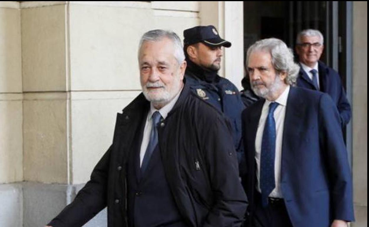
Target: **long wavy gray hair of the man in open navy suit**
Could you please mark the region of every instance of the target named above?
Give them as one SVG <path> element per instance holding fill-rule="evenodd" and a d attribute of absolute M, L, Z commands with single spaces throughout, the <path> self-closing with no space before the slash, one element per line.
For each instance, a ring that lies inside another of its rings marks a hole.
<path fill-rule="evenodd" d="M 282 40 L 276 38 L 262 39 L 254 43 L 247 50 L 246 65 L 249 63 L 250 54 L 254 51 L 270 53 L 272 65 L 277 72 L 286 72 L 286 84 L 296 85 L 296 79 L 300 70 L 299 65 L 293 61 L 293 52 Z"/>

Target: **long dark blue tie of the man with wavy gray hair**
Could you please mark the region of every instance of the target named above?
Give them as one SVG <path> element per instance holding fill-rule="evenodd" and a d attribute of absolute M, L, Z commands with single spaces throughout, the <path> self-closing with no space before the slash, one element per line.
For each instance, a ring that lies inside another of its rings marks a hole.
<path fill-rule="evenodd" d="M 264 207 L 268 205 L 268 196 L 275 188 L 274 160 L 276 150 L 276 123 L 273 114 L 277 106 L 278 103 L 276 102 L 269 104 L 269 113 L 266 118 L 261 142 L 260 189 L 261 202 Z"/>

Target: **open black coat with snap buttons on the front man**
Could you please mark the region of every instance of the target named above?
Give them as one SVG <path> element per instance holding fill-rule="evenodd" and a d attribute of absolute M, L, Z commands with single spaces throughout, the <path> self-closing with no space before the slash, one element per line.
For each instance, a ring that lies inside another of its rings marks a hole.
<path fill-rule="evenodd" d="M 51 226 L 82 226 L 105 206 L 108 227 L 127 226 L 127 159 L 137 146 L 134 138 L 142 133 L 149 105 L 141 93 L 118 113 L 113 144 Z M 158 136 L 166 180 L 187 226 L 240 226 L 247 199 L 223 115 L 185 83 L 175 106 L 159 123 Z"/>

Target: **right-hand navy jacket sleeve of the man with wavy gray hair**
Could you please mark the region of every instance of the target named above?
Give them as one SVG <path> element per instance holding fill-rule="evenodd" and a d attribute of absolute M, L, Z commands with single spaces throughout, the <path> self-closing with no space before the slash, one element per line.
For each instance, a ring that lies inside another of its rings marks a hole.
<path fill-rule="evenodd" d="M 319 108 L 319 138 L 326 155 L 332 219 L 354 221 L 351 170 L 339 114 L 330 96 L 326 94 L 321 96 Z"/>

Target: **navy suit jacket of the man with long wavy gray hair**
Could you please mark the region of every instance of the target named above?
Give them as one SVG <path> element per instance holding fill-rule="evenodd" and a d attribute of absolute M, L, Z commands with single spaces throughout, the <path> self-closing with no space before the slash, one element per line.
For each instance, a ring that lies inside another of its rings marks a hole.
<path fill-rule="evenodd" d="M 255 209 L 255 137 L 265 99 L 242 113 L 248 173 L 243 182 L 249 217 Z M 282 138 L 281 182 L 289 218 L 296 227 L 328 227 L 354 220 L 352 179 L 339 114 L 324 93 L 290 88 Z"/>

